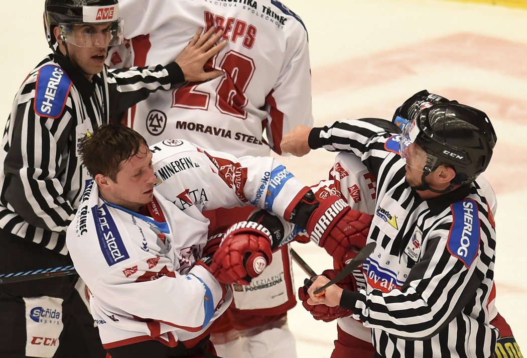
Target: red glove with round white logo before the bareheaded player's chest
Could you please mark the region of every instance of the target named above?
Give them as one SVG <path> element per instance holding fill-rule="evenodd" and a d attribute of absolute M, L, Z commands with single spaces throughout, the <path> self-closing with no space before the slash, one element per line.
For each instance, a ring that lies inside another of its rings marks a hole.
<path fill-rule="evenodd" d="M 232 225 L 212 257 L 210 270 L 221 283 L 248 285 L 271 263 L 271 233 L 252 221 Z"/>

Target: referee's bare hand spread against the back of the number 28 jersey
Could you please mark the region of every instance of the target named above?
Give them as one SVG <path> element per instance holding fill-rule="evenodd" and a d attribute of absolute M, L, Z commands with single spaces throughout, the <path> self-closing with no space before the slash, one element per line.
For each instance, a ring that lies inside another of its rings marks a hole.
<path fill-rule="evenodd" d="M 216 34 L 214 34 L 214 31 L 216 31 L 216 26 L 212 26 L 206 33 L 201 35 L 203 28 L 200 27 L 187 47 L 175 59 L 175 62 L 183 71 L 185 81 L 207 81 L 223 74 L 222 71 L 205 72 L 203 69 L 210 57 L 216 55 L 227 45 L 226 40 L 218 43 L 223 35 L 223 30 L 218 31 Z"/>

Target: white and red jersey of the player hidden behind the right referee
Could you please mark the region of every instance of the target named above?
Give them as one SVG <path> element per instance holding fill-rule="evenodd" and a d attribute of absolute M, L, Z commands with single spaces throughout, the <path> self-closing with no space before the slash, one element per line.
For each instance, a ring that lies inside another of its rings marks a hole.
<path fill-rule="evenodd" d="M 483 176 L 479 176 L 476 182 L 484 192 L 492 216 L 495 216 L 497 201 L 489 181 Z M 372 215 L 375 212 L 375 178 L 354 154 L 346 152 L 337 154 L 335 163 L 329 171 L 329 178 L 320 181 L 318 185 L 311 187 L 311 189 L 320 199 L 324 199 L 329 195 L 339 195 L 348 202 L 348 205 L 352 209 L 368 212 Z M 365 280 L 360 277 L 362 276 L 362 270 L 354 270 L 353 274 L 357 279 L 359 287 L 362 285 L 364 288 Z M 493 287 L 493 293 L 491 294 L 487 307 L 491 320 L 493 320 L 497 315 L 497 309 L 495 307 L 495 286 Z M 370 329 L 363 326 L 361 322 L 354 320 L 354 318 L 339 318 L 337 324 L 344 332 L 360 338 L 363 341 L 371 342 Z"/>

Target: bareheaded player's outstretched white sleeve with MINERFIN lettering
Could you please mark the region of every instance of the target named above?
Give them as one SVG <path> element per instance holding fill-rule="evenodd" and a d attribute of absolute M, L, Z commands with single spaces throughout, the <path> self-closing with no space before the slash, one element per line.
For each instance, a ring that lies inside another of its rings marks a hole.
<path fill-rule="evenodd" d="M 156 192 L 182 210 L 250 205 L 289 219 L 309 190 L 271 157 L 236 158 L 179 139 L 155 143 L 150 151 Z"/>

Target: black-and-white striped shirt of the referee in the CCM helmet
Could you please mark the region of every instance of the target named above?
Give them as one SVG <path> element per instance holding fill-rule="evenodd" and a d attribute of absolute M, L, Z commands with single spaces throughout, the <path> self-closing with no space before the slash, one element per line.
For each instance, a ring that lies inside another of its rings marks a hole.
<path fill-rule="evenodd" d="M 379 356 L 491 357 L 495 230 L 487 200 L 476 182 L 421 199 L 405 181 L 398 140 L 360 120 L 310 133 L 311 148 L 352 152 L 377 179 L 366 289 L 345 291 L 340 304 L 372 328 Z"/>

